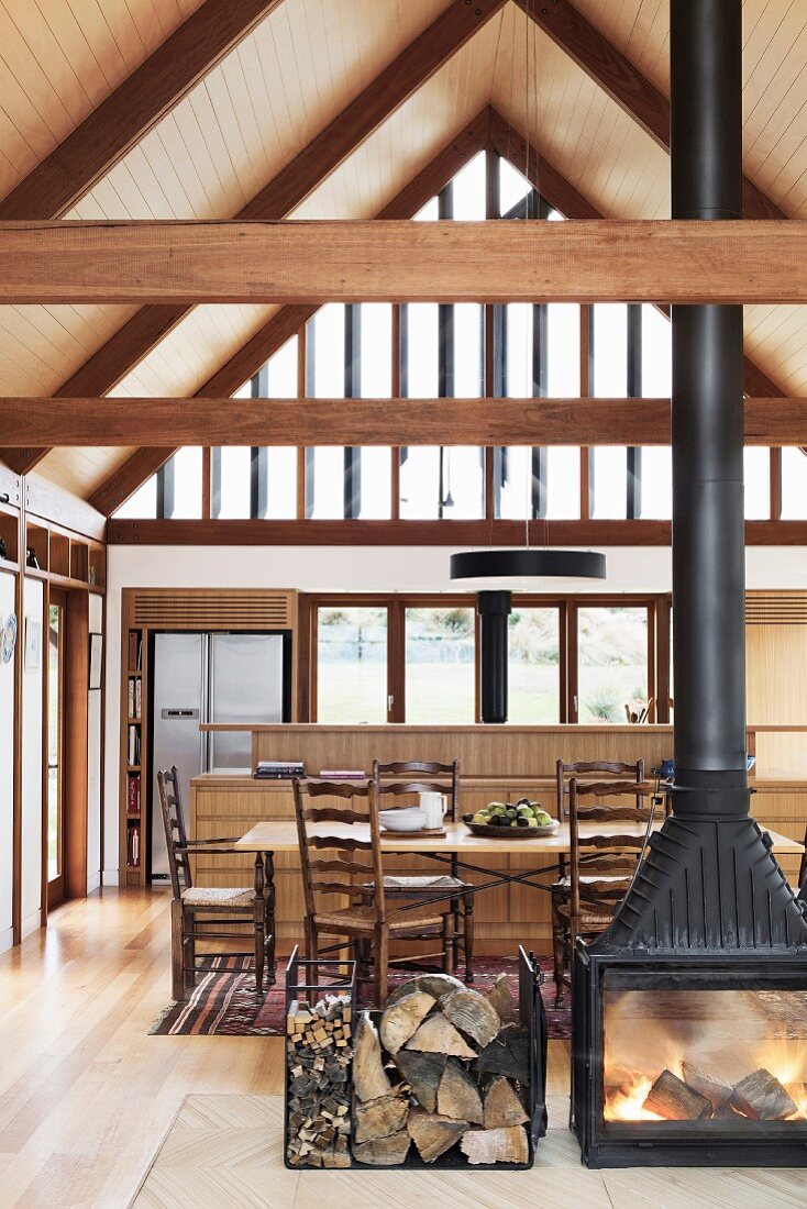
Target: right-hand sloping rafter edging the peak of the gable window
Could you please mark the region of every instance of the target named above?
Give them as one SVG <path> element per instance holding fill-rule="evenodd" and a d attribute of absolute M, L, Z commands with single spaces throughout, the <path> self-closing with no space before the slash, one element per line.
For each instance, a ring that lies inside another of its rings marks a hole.
<path fill-rule="evenodd" d="M 601 210 L 589 202 L 546 156 L 540 156 L 523 131 L 517 129 L 495 109 L 490 109 L 490 143 L 495 151 L 526 177 L 546 202 L 567 219 L 604 219 Z M 670 308 L 658 310 L 669 318 Z M 782 387 L 760 369 L 750 357 L 743 357 L 743 382 L 749 395 L 780 395 Z"/>

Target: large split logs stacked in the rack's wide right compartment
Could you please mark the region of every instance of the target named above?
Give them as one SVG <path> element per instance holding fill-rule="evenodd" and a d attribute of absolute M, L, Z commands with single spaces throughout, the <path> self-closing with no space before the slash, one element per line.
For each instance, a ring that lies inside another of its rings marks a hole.
<path fill-rule="evenodd" d="M 399 988 L 379 1029 L 363 1013 L 353 1052 L 352 1152 L 374 1167 L 410 1147 L 433 1163 L 459 1146 L 468 1163 L 526 1163 L 528 1030 L 502 977 L 486 995 L 446 974 Z"/>

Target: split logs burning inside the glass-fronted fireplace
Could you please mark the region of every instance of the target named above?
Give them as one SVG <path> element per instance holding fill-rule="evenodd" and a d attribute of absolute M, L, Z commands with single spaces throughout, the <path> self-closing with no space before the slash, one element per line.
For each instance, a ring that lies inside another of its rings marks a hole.
<path fill-rule="evenodd" d="M 785 1121 L 799 1112 L 784 1084 L 763 1066 L 734 1084 L 690 1062 L 681 1063 L 681 1074 L 684 1078 L 662 1071 L 645 1100 L 650 1112 L 665 1121 Z"/>

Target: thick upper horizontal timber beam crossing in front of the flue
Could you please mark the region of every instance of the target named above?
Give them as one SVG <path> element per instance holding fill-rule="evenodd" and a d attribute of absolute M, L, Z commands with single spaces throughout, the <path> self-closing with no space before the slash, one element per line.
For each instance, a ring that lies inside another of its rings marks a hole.
<path fill-rule="evenodd" d="M 4 222 L 0 303 L 807 302 L 807 221 Z"/>

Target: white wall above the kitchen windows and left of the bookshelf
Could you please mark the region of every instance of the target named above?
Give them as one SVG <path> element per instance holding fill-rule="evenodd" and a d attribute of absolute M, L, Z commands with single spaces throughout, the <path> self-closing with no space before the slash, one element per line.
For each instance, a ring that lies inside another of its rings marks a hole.
<path fill-rule="evenodd" d="M 300 591 L 456 591 L 449 546 L 134 546 L 110 545 L 106 569 L 106 760 L 104 883 L 117 883 L 121 699 L 121 590 L 123 588 L 296 588 Z M 460 549 L 459 546 L 456 549 Z M 607 579 L 598 591 L 665 592 L 673 586 L 667 546 L 610 548 Z M 807 589 L 807 548 L 751 546 L 747 585 Z M 586 591 L 553 580 L 552 591 Z M 590 589 L 589 589 L 590 590 Z"/>

